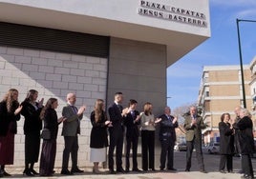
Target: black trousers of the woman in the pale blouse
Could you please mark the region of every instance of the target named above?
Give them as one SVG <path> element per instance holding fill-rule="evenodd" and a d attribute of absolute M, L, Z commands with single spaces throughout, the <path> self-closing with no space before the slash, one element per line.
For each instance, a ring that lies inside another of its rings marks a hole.
<path fill-rule="evenodd" d="M 141 130 L 142 169 L 155 169 L 155 130 Z"/>

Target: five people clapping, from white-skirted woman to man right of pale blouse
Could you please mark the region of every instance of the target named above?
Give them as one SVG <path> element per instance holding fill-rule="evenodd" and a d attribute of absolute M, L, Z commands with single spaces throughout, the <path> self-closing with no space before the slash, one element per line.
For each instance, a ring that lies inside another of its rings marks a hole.
<path fill-rule="evenodd" d="M 167 158 L 167 169 L 176 170 L 173 167 L 173 149 L 176 141 L 175 128 L 178 127 L 177 117 L 171 115 L 171 109 L 166 107 L 164 114 L 155 118 L 152 110 L 153 106 L 147 102 L 143 106 L 143 111 L 139 112 L 136 108 L 138 102 L 130 99 L 128 107 L 121 106 L 123 95 L 117 92 L 114 103 L 108 108 L 109 120 L 104 111 L 102 100 L 96 101 L 95 110 L 91 113 L 93 129 L 91 132 L 91 162 L 94 162 L 93 171 L 99 173 L 98 163 L 106 160 L 106 147 L 108 149 L 109 171 L 112 174 L 117 172 L 141 171 L 138 168 L 138 142 L 141 132 L 141 155 L 142 169 L 155 170 L 155 130 L 160 126 L 160 169 L 165 169 Z M 107 140 L 107 129 L 109 131 L 109 143 Z M 126 132 L 124 130 L 126 129 Z M 141 131 L 139 131 L 141 130 Z M 122 168 L 122 148 L 124 133 L 126 133 L 126 153 L 125 169 Z M 99 139 L 100 138 L 100 139 Z M 114 151 L 116 149 L 116 170 L 114 167 Z M 130 150 L 132 149 L 132 162 L 130 165 Z M 103 154 L 102 154 L 103 153 Z"/>

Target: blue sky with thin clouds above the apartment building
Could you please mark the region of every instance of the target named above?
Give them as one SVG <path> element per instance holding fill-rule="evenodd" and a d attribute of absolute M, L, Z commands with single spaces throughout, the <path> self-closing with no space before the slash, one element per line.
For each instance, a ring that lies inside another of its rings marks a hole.
<path fill-rule="evenodd" d="M 204 66 L 240 65 L 236 19 L 256 21 L 256 0 L 209 0 L 211 37 L 167 69 L 167 105 L 197 102 Z M 243 64 L 256 57 L 256 22 L 240 22 Z M 184 72 L 185 71 L 185 72 Z"/>

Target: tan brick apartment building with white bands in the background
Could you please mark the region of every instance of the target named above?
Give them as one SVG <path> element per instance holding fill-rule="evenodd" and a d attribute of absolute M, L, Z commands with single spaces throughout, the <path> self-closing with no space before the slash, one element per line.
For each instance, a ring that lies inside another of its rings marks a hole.
<path fill-rule="evenodd" d="M 243 67 L 246 106 L 252 109 L 251 70 L 248 65 Z M 203 107 L 203 120 L 207 124 L 207 128 L 203 129 L 204 143 L 218 141 L 221 115 L 229 112 L 231 118 L 235 118 L 234 109 L 244 106 L 240 66 L 205 66 L 198 102 Z"/>

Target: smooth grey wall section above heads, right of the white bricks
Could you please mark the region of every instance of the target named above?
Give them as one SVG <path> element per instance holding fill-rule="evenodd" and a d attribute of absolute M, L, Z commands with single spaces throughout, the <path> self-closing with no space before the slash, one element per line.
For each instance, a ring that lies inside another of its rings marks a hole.
<path fill-rule="evenodd" d="M 166 47 L 163 45 L 111 38 L 108 77 L 108 105 L 122 91 L 123 106 L 129 99 L 153 104 L 155 115 L 166 105 Z"/>

